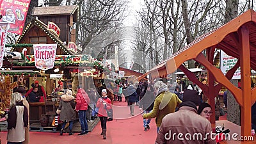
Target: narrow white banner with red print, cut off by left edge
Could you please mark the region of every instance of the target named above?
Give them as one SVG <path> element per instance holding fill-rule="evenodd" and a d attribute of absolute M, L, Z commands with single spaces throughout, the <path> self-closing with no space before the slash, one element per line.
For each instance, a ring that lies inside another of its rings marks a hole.
<path fill-rule="evenodd" d="M 0 68 L 3 66 L 5 41 L 8 28 L 8 22 L 0 22 Z"/>

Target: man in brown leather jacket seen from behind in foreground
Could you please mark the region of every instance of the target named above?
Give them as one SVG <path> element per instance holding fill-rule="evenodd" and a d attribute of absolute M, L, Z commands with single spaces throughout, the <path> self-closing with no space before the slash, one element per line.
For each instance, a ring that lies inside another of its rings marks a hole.
<path fill-rule="evenodd" d="M 216 144 L 209 120 L 197 114 L 198 93 L 184 92 L 179 111 L 164 116 L 156 144 Z"/>

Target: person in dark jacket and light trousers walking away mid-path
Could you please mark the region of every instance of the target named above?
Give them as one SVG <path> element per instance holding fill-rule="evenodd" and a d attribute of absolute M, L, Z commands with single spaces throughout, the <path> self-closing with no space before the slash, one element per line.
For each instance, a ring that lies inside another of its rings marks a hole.
<path fill-rule="evenodd" d="M 134 89 L 134 87 L 132 85 L 130 85 L 126 89 L 125 93 L 126 93 L 125 97 L 127 97 L 127 100 L 128 100 L 128 106 L 130 107 L 131 115 L 134 116 L 134 105 L 135 105 L 135 102 L 137 99 L 136 90 Z"/>

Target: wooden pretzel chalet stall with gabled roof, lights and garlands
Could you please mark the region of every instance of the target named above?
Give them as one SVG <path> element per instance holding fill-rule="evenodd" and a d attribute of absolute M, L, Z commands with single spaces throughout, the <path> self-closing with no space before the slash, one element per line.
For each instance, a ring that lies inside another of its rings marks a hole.
<path fill-rule="evenodd" d="M 13 53 L 19 53 L 24 58 L 9 57 L 12 70 L 35 70 L 38 75 L 28 77 L 26 90 L 31 88 L 35 79 L 44 86 L 47 95 L 51 95 L 58 81 L 65 82 L 65 88 L 72 90 L 72 76 L 70 67 L 77 69 L 77 61 L 88 61 L 88 55 L 81 55 L 81 51 L 74 47 L 76 42 L 76 29 L 73 27 L 77 21 L 78 6 L 49 6 L 36 7 L 33 10 L 34 19 L 22 31 L 22 35 L 12 47 Z M 49 70 L 40 70 L 35 67 L 33 44 L 57 44 L 54 67 Z M 70 46 L 71 45 L 71 46 Z M 58 69 L 58 71 L 57 71 Z M 59 79 L 51 79 L 51 74 L 61 74 Z M 73 77 L 74 78 L 74 77 Z M 77 86 L 74 86 L 74 88 Z M 40 122 L 41 115 L 47 114 L 45 102 L 30 102 L 30 121 Z M 33 114 L 33 115 L 32 115 Z"/>

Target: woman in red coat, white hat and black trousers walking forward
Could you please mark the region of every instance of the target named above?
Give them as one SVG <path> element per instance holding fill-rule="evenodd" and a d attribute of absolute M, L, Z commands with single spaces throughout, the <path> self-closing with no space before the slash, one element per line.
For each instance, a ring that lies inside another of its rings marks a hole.
<path fill-rule="evenodd" d="M 106 139 L 106 132 L 107 132 L 107 120 L 108 120 L 108 113 L 107 110 L 111 109 L 111 100 L 108 98 L 107 90 L 102 89 L 102 98 L 98 99 L 96 108 L 99 108 L 98 116 L 100 118 L 101 123 L 101 135 L 103 138 Z"/>

